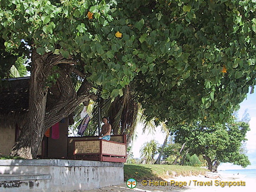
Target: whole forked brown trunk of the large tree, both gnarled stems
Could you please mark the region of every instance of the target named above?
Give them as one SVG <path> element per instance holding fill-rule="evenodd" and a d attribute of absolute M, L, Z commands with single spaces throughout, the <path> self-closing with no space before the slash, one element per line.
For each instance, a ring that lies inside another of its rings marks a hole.
<path fill-rule="evenodd" d="M 89 94 L 91 85 L 84 81 L 76 94 L 69 73 L 69 69 L 61 68 L 58 72 L 60 77 L 57 79 L 57 87 L 60 94 L 54 98 L 52 105 L 46 107 L 47 93 L 49 87 L 46 80 L 52 74 L 52 67 L 65 63 L 60 55 L 46 53 L 40 56 L 33 51 L 32 69 L 29 89 L 29 108 L 27 126 L 21 129 L 20 136 L 12 148 L 11 155 L 20 156 L 25 159 L 36 158 L 37 151 L 46 130 L 53 126 L 64 117 L 72 113 L 75 108 L 83 101 L 95 99 Z"/>

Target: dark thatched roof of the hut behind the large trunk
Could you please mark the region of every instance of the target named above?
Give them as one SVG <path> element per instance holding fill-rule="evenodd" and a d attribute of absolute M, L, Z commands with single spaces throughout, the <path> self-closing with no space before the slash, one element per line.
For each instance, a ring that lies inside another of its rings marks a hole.
<path fill-rule="evenodd" d="M 0 85 L 0 126 L 15 127 L 27 121 L 28 92 L 30 77 L 2 79 Z M 50 88 L 47 95 L 47 106 L 59 98 L 57 85 Z M 72 119 L 70 119 L 72 121 Z"/>

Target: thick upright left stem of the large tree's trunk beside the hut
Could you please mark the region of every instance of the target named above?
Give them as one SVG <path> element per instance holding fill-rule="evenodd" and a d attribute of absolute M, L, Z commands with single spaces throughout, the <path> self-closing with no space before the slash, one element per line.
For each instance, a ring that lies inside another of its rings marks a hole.
<path fill-rule="evenodd" d="M 48 88 L 46 78 L 52 70 L 46 59 L 33 51 L 33 63 L 28 97 L 28 123 L 21 130 L 21 135 L 12 148 L 11 155 L 32 159 L 37 155 L 41 140 L 43 139 L 44 116 Z"/>

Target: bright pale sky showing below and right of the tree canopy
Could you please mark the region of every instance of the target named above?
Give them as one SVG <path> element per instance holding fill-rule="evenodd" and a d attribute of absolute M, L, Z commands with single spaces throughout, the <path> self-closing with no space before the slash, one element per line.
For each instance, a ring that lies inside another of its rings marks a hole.
<path fill-rule="evenodd" d="M 239 119 L 242 118 L 245 110 L 248 110 L 249 117 L 251 118 L 249 121 L 250 131 L 247 132 L 248 140 L 246 142 L 246 148 L 248 150 L 247 155 L 251 165 L 249 165 L 247 169 L 256 169 L 256 93 L 248 94 L 247 98 L 245 98 L 245 100 L 240 104 L 240 109 L 238 111 Z M 156 127 L 156 131 L 154 133 L 146 132 L 143 134 L 142 124 L 139 124 L 136 127 L 136 132 L 137 138 L 132 148 L 134 158 L 140 158 L 139 150 L 142 148 L 143 143 L 152 139 L 157 140 L 160 145 L 164 143 L 165 134 L 161 131 L 161 127 Z M 242 169 L 242 167 L 233 164 L 220 164 L 219 170 L 224 169 Z"/>

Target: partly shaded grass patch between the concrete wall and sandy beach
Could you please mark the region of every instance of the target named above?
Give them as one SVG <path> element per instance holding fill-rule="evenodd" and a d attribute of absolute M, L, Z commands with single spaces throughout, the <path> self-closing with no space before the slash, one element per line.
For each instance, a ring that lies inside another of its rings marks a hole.
<path fill-rule="evenodd" d="M 164 178 L 203 175 L 207 169 L 181 165 L 124 165 L 124 181 L 134 178 L 141 180 L 163 180 Z"/>

